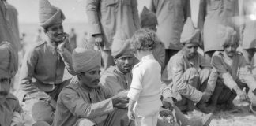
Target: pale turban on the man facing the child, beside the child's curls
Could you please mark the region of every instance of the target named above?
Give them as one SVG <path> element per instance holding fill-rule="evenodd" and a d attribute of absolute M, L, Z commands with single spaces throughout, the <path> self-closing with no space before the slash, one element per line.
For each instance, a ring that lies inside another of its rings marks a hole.
<path fill-rule="evenodd" d="M 132 54 L 129 37 L 123 31 L 118 31 L 112 43 L 111 55 L 118 58 L 124 54 Z"/>

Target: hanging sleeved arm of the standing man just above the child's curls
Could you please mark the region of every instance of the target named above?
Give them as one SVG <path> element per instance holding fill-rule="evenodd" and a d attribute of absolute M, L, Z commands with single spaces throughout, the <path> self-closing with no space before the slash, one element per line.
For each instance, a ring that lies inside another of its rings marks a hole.
<path fill-rule="evenodd" d="M 138 11 L 137 11 L 137 0 L 132 0 L 131 2 L 132 2 L 134 26 L 136 29 L 139 29 L 140 28 L 140 20 L 139 20 Z"/>

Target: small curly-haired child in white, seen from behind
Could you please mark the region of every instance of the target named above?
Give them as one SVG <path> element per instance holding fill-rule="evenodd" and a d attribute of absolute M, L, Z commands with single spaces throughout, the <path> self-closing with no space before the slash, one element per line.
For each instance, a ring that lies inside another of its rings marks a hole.
<path fill-rule="evenodd" d="M 162 106 L 160 100 L 161 67 L 152 55 L 160 41 L 154 31 L 140 29 L 130 39 L 135 57 L 140 61 L 133 69 L 133 80 L 128 92 L 130 98 L 128 117 L 135 119 L 137 126 L 156 126 Z"/>

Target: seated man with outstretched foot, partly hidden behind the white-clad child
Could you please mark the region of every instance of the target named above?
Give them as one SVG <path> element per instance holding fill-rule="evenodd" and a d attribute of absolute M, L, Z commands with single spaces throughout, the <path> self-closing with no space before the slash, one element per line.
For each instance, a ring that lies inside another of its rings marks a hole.
<path fill-rule="evenodd" d="M 131 69 L 134 64 L 133 57 L 134 54 L 132 50 L 130 50 L 129 40 L 124 36 L 115 36 L 113 41 L 113 46 L 111 50 L 111 54 L 115 59 L 115 65 L 108 68 L 102 76 L 100 77 L 100 83 L 109 88 L 114 95 L 118 94 L 120 91 L 125 91 L 130 89 L 130 83 L 132 80 Z M 168 102 L 164 104 L 166 108 L 170 108 L 173 106 Z M 126 106 L 120 106 L 126 108 Z M 181 122 L 182 125 L 191 125 L 191 126 L 200 126 L 207 125 L 212 117 L 212 114 L 205 115 L 205 117 L 198 118 L 196 120 L 189 120 L 184 116 L 183 113 L 180 112 L 177 106 L 173 106 L 174 111 L 162 111 L 160 112 L 161 116 L 167 117 L 168 115 L 174 114 L 177 118 L 177 122 Z M 174 112 L 174 113 L 172 113 Z M 168 126 L 165 124 L 163 120 L 158 120 L 158 126 Z"/>

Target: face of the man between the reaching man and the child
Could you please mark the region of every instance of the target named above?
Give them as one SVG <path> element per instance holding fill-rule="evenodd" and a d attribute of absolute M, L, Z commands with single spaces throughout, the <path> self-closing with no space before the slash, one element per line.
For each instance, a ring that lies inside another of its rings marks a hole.
<path fill-rule="evenodd" d="M 130 72 L 134 64 L 134 57 L 131 54 L 125 54 L 115 59 L 115 65 L 122 73 Z"/>

